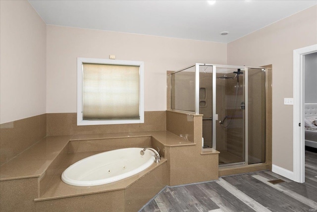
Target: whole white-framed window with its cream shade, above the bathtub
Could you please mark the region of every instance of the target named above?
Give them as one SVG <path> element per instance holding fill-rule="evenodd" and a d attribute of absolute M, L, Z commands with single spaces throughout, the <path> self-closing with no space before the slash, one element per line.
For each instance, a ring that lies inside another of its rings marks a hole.
<path fill-rule="evenodd" d="M 144 123 L 144 63 L 77 58 L 77 125 Z"/>

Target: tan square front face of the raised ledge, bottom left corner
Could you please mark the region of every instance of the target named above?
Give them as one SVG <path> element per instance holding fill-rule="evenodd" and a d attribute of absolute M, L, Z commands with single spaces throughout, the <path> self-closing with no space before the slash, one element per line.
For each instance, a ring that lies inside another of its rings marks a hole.
<path fill-rule="evenodd" d="M 34 212 L 37 184 L 37 178 L 0 181 L 0 211 Z"/>

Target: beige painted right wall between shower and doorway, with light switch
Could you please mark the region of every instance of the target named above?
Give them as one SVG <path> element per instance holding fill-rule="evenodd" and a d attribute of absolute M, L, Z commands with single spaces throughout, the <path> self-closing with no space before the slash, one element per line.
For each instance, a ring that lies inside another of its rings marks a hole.
<path fill-rule="evenodd" d="M 268 14 L 269 15 L 269 14 Z M 293 171 L 293 50 L 317 44 L 317 6 L 228 44 L 228 64 L 272 64 L 272 164 Z"/>

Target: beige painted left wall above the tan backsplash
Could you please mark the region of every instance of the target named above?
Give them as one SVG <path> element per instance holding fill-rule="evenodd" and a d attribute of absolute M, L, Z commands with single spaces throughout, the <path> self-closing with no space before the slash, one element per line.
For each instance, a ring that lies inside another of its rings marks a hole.
<path fill-rule="evenodd" d="M 0 123 L 46 113 L 46 24 L 26 0 L 0 1 Z"/>

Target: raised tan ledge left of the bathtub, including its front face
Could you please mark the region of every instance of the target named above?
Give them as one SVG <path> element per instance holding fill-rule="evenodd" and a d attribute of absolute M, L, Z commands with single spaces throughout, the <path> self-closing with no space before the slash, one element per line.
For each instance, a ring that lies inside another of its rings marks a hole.
<path fill-rule="evenodd" d="M 0 166 L 1 211 L 35 211 L 34 199 L 52 179 L 55 161 L 64 160 L 70 138 L 46 137 Z"/>

